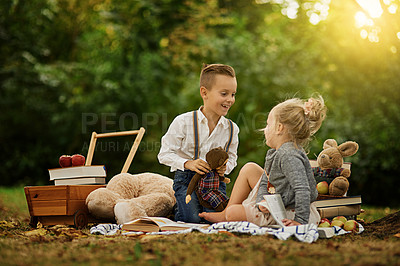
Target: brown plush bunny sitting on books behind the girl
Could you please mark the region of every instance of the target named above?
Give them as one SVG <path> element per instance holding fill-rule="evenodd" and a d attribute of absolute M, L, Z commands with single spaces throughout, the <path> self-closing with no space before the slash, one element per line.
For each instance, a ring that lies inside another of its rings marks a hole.
<path fill-rule="evenodd" d="M 313 167 L 314 177 L 317 183 L 326 181 L 329 184 L 328 193 L 331 196 L 343 196 L 349 188 L 350 170 L 342 168 L 343 157 L 354 155 L 358 151 L 358 144 L 354 141 L 346 141 L 337 145 L 336 140 L 327 139 L 323 150 L 318 155 L 317 167 Z"/>

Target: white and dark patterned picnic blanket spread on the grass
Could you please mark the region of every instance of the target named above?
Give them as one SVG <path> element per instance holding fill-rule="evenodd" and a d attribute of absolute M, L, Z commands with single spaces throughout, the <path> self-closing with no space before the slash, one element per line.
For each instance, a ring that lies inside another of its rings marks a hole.
<path fill-rule="evenodd" d="M 364 231 L 364 228 L 359 224 L 358 234 Z M 91 234 L 100 235 L 115 235 L 120 232 L 122 225 L 118 224 L 99 224 L 90 228 Z M 221 231 L 227 231 L 231 233 L 241 233 L 241 234 L 251 234 L 251 235 L 273 235 L 280 240 L 287 240 L 291 236 L 294 236 L 300 242 L 313 243 L 317 241 L 318 227 L 315 224 L 303 224 L 297 226 L 282 227 L 279 229 L 269 228 L 269 227 L 259 227 L 250 222 L 221 222 L 210 225 L 207 229 L 200 227 L 188 228 L 179 231 L 164 231 L 164 232 L 151 232 L 146 233 L 150 235 L 172 235 L 172 234 L 186 234 L 190 232 L 201 232 L 204 234 L 216 234 Z M 348 231 L 334 226 L 335 235 L 348 234 Z M 144 234 L 144 232 L 133 232 L 133 231 L 122 231 L 122 235 L 137 235 Z"/>

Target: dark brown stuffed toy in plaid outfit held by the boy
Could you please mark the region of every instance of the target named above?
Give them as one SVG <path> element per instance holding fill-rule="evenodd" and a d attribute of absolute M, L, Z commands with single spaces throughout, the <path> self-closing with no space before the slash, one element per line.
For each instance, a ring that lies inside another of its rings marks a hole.
<path fill-rule="evenodd" d="M 186 191 L 186 204 L 191 201 L 191 194 L 196 191 L 196 195 L 203 207 L 223 211 L 228 204 L 228 197 L 219 191 L 219 182 L 229 183 L 231 180 L 224 176 L 219 176 L 217 171 L 228 162 L 228 153 L 221 147 L 210 150 L 206 154 L 206 161 L 211 167 L 207 174 L 196 173 L 189 183 Z"/>

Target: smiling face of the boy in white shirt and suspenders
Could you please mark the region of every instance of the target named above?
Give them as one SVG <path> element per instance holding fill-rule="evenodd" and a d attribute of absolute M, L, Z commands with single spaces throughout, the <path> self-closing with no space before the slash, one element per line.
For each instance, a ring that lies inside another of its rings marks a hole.
<path fill-rule="evenodd" d="M 225 116 L 235 103 L 236 78 L 216 75 L 212 88 L 200 88 L 204 108 L 218 116 Z"/>

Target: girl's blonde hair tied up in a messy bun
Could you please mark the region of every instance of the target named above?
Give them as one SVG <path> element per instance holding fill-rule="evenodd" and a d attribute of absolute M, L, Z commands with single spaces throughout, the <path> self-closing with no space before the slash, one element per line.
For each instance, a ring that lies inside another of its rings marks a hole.
<path fill-rule="evenodd" d="M 298 98 L 286 100 L 276 105 L 273 111 L 275 121 L 282 123 L 291 141 L 301 147 L 307 146 L 326 117 L 326 106 L 320 95 L 308 101 Z"/>

